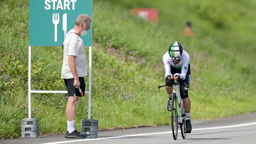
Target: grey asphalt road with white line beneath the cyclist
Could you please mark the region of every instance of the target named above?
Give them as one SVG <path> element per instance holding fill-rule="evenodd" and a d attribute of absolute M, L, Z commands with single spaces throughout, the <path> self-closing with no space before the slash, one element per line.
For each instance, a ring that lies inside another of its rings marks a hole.
<path fill-rule="evenodd" d="M 170 126 L 104 130 L 98 138 L 67 139 L 64 135 L 0 140 L 0 144 L 255 144 L 256 112 L 209 121 L 192 121 L 192 132 L 172 137 Z"/>

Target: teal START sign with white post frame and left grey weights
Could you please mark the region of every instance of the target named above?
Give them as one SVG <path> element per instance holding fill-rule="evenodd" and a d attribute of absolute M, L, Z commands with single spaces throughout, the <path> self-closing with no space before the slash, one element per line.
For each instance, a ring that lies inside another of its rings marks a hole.
<path fill-rule="evenodd" d="M 92 18 L 92 0 L 30 0 L 28 46 L 28 119 L 22 119 L 22 137 L 38 137 L 38 129 L 31 118 L 31 93 L 68 93 L 66 90 L 31 90 L 31 46 L 60 46 L 66 32 L 74 27 L 79 14 Z M 92 25 L 92 24 L 91 24 Z M 88 119 L 91 118 L 92 92 L 92 29 L 82 37 L 89 46 Z M 32 125 L 31 125 L 32 124 Z M 32 126 L 31 128 L 28 128 Z M 35 129 L 32 131 L 31 129 Z M 30 131 L 28 131 L 30 130 Z"/>

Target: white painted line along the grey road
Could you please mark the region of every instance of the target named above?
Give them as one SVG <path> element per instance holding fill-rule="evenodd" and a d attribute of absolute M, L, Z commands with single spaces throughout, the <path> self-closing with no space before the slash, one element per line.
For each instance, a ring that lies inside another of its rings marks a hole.
<path fill-rule="evenodd" d="M 218 127 L 209 127 L 209 128 L 195 128 L 192 131 L 195 130 L 214 130 L 214 129 L 221 129 L 221 128 L 236 128 L 241 126 L 250 126 L 254 125 L 256 122 L 246 123 L 246 124 L 236 124 L 236 125 L 230 125 L 230 126 L 218 126 Z M 43 144 L 65 144 L 69 142 L 81 142 L 81 141 L 90 141 L 90 140 L 106 140 L 106 139 L 113 139 L 113 138 L 125 138 L 125 137 L 134 137 L 134 136 L 145 136 L 145 135 L 154 135 L 154 134 L 169 134 L 172 133 L 169 132 L 153 132 L 153 133 L 146 133 L 146 134 L 132 134 L 132 135 L 124 135 L 124 136 L 112 136 L 107 138 L 89 138 L 89 139 L 81 139 L 81 140 L 69 140 L 69 141 L 62 141 L 62 142 L 48 142 Z"/>

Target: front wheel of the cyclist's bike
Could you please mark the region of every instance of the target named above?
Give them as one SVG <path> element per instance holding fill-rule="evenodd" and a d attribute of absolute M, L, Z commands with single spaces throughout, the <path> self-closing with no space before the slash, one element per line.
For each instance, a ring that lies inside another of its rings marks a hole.
<path fill-rule="evenodd" d="M 171 120 L 172 120 L 172 136 L 174 140 L 178 136 L 178 108 L 176 104 L 176 94 L 172 93 L 172 110 L 171 110 Z"/>

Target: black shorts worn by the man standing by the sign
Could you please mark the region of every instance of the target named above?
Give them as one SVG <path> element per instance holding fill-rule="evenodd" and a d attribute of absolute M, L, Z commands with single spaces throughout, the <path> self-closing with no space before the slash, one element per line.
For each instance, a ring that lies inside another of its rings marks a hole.
<path fill-rule="evenodd" d="M 84 93 L 85 91 L 84 77 L 79 77 L 79 81 L 80 81 L 80 88 Z M 74 78 L 64 79 L 64 82 L 68 90 L 68 96 L 74 96 L 74 93 L 76 94 L 76 96 L 81 96 L 79 90 L 74 86 Z"/>

